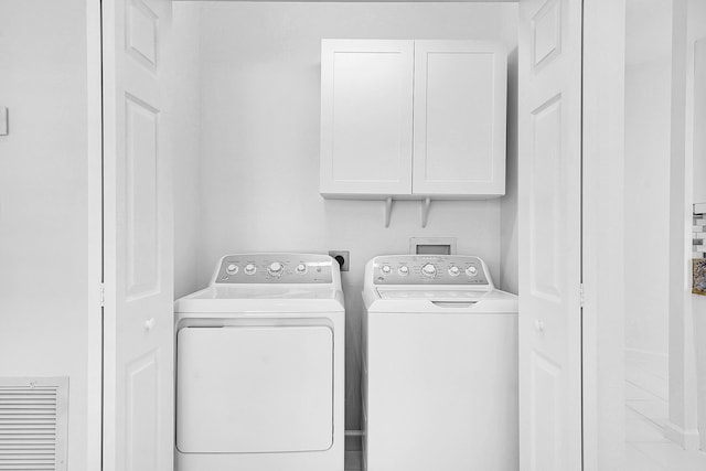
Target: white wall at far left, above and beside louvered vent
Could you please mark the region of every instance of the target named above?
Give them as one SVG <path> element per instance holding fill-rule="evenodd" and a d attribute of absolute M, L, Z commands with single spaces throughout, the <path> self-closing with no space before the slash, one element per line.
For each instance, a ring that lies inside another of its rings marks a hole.
<path fill-rule="evenodd" d="M 0 2 L 0 377 L 68 376 L 86 465 L 86 2 Z M 92 311 L 99 315 L 99 310 Z"/>

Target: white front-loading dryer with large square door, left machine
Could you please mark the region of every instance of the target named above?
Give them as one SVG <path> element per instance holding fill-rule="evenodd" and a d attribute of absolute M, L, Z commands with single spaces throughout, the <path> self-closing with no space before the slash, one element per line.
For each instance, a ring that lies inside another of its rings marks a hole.
<path fill-rule="evenodd" d="M 335 260 L 227 255 L 175 322 L 178 471 L 343 471 Z"/>

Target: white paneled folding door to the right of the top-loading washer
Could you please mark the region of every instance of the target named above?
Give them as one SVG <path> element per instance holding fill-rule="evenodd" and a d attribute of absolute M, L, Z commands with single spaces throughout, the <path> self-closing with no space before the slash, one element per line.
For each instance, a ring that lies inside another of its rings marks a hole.
<path fill-rule="evenodd" d="M 581 469 L 581 0 L 520 1 L 520 463 Z"/>

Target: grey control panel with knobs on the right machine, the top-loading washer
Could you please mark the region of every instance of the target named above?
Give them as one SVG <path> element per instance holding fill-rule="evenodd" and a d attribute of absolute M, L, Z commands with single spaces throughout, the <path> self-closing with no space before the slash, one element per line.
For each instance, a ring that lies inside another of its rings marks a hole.
<path fill-rule="evenodd" d="M 373 261 L 374 285 L 488 286 L 483 261 L 464 255 L 388 255 Z"/>

